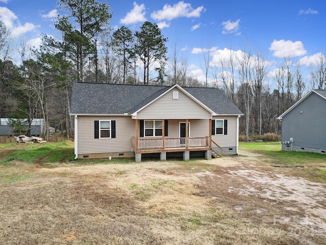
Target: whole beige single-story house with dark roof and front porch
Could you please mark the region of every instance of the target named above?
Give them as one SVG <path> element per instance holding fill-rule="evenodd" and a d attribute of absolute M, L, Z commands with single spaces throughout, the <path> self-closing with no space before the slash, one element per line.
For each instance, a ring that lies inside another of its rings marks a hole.
<path fill-rule="evenodd" d="M 76 158 L 236 155 L 242 112 L 218 88 L 73 84 Z M 181 155 L 181 156 L 182 156 Z"/>

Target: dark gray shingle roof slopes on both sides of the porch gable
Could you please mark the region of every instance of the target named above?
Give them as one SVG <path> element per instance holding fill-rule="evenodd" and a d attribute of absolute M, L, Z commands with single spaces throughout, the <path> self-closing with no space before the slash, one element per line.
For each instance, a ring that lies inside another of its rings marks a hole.
<path fill-rule="evenodd" d="M 170 88 L 167 86 L 75 82 L 72 87 L 70 113 L 133 113 Z M 218 88 L 183 87 L 183 89 L 218 114 L 243 115 Z"/>

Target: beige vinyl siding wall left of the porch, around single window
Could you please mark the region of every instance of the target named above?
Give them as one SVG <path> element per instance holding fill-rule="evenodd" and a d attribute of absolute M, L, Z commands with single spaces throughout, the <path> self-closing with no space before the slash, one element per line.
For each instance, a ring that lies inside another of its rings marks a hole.
<path fill-rule="evenodd" d="M 116 120 L 116 138 L 95 139 L 95 120 Z M 128 152 L 135 136 L 135 120 L 129 116 L 78 116 L 78 154 Z"/>

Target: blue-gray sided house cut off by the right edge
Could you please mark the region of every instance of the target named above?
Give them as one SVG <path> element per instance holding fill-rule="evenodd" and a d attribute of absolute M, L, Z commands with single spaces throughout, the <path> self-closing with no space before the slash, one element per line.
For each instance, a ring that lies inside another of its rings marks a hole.
<path fill-rule="evenodd" d="M 325 154 L 326 90 L 310 90 L 278 119 L 282 120 L 282 150 Z"/>

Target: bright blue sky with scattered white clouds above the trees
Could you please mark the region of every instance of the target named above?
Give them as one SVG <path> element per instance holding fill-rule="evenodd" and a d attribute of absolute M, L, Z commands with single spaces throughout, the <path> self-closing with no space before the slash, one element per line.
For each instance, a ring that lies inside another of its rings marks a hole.
<path fill-rule="evenodd" d="M 60 37 L 53 28 L 58 15 L 56 0 L 0 0 L 0 17 L 13 36 L 39 43 L 42 34 Z M 108 1 L 111 26 L 139 30 L 144 21 L 157 23 L 169 39 L 168 57 L 174 46 L 186 59 L 188 74 L 203 80 L 204 56 L 212 61 L 234 51 L 259 51 L 269 61 L 270 71 L 284 58 L 303 66 L 313 64 L 325 48 L 326 2 L 283 1 Z"/>

